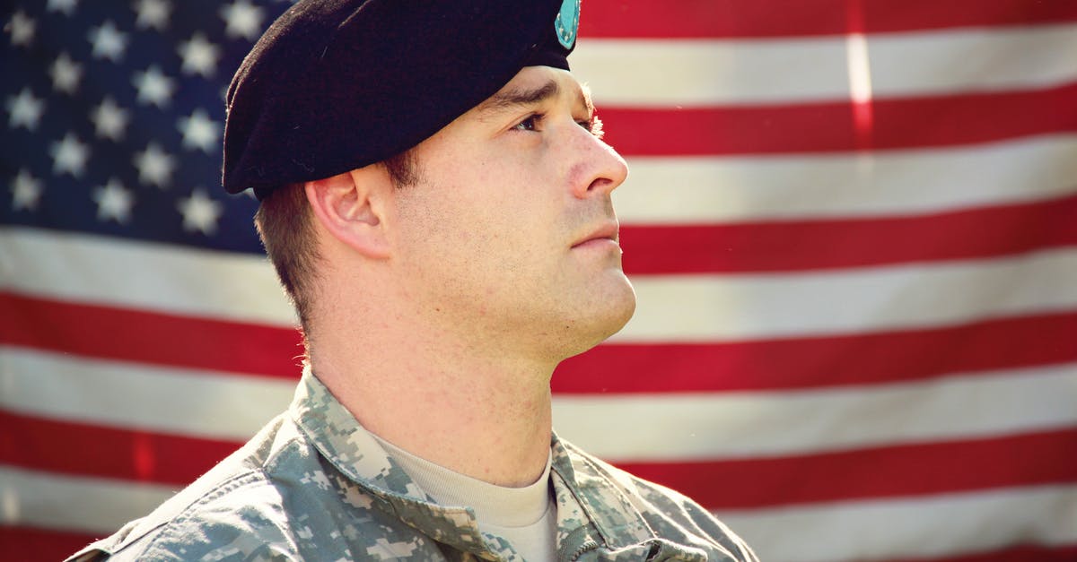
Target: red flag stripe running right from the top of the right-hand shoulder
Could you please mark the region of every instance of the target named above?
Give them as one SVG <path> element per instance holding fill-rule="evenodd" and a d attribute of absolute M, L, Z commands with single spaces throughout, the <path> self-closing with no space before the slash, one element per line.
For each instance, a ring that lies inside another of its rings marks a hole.
<path fill-rule="evenodd" d="M 774 507 L 1077 482 L 1077 428 L 774 459 L 616 464 L 712 510 Z"/>

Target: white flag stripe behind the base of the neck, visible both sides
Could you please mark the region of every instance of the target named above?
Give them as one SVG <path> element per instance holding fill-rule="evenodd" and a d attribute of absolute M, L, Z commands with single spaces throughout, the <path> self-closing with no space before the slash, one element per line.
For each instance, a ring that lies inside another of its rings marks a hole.
<path fill-rule="evenodd" d="M 288 407 L 294 389 L 285 380 L 0 352 L 11 367 L 5 409 L 170 435 L 246 441 Z M 609 460 L 722 460 L 1052 430 L 1077 423 L 1074 395 L 1077 365 L 1068 364 L 853 389 L 557 395 L 554 417 L 564 438 Z"/>

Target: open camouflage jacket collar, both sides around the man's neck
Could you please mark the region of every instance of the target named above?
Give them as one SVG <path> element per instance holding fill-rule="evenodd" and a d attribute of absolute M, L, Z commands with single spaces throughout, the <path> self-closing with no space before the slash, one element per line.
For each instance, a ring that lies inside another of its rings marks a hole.
<path fill-rule="evenodd" d="M 434 503 L 309 367 L 304 370 L 290 413 L 318 451 L 349 484 L 359 488 L 349 486 L 340 490 L 346 503 L 369 497 L 370 503 L 439 543 L 481 558 L 491 554 L 495 559 L 513 558 L 513 550 L 504 539 L 479 531 L 472 509 Z M 617 549 L 655 537 L 629 500 L 633 484 L 623 473 L 562 441 L 556 434 L 550 447 L 551 479 L 558 502 L 558 545 L 583 544 L 586 537 Z M 591 530 L 598 536 L 590 536 Z"/>

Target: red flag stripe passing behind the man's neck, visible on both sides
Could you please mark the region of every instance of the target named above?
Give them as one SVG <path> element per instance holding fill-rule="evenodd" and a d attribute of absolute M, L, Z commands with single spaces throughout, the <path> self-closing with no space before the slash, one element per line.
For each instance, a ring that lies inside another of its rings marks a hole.
<path fill-rule="evenodd" d="M 252 332 L 242 324 L 158 317 L 12 294 L 0 294 L 0 307 L 15 312 L 0 317 L 0 342 L 8 345 L 286 379 L 295 379 L 298 373 L 297 367 L 289 367 L 293 364 L 291 355 L 282 352 L 294 349 L 292 338 L 297 338 L 288 329 L 258 337 L 262 332 Z M 62 322 L 37 326 L 34 319 Z M 158 324 L 157 320 L 163 322 Z M 71 329 L 72 325 L 102 325 L 107 329 Z M 193 336 L 196 334 L 208 336 Z M 562 362 L 553 389 L 565 394 L 721 392 L 918 380 L 951 373 L 1077 361 L 1073 334 L 1077 334 L 1077 311 L 843 336 L 606 343 Z M 182 353 L 176 352 L 178 340 L 183 340 Z M 221 363 L 210 361 L 214 357 Z M 227 357 L 227 362 L 220 357 Z M 267 365 L 266 357 L 279 363 Z"/>

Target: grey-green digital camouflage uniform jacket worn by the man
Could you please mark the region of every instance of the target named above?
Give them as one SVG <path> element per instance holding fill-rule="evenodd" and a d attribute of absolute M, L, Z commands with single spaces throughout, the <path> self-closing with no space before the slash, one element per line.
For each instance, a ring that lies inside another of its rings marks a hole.
<path fill-rule="evenodd" d="M 556 436 L 559 560 L 753 561 L 684 496 Z M 154 512 L 69 560 L 520 560 L 433 503 L 309 370 L 286 412 Z"/>

